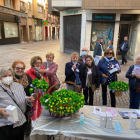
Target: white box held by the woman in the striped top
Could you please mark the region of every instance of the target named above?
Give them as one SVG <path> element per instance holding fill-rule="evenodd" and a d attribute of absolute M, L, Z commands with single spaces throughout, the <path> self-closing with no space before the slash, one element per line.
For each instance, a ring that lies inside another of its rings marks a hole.
<path fill-rule="evenodd" d="M 8 121 L 16 123 L 18 121 L 18 112 L 15 106 L 9 105 L 6 108 L 6 112 L 10 115 Z"/>

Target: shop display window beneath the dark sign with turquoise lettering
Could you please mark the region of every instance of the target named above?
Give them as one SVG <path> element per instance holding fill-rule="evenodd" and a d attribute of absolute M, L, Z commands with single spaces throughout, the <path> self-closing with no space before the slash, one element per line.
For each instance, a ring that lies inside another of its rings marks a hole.
<path fill-rule="evenodd" d="M 114 23 L 92 23 L 91 45 L 90 50 L 93 51 L 96 42 L 103 38 L 103 50 L 108 47 L 108 41 L 113 40 Z"/>

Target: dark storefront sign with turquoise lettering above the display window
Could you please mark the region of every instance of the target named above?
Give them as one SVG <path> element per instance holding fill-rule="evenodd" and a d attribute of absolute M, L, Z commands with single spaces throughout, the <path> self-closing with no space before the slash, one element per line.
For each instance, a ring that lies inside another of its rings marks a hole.
<path fill-rule="evenodd" d="M 93 14 L 93 20 L 115 20 L 114 14 Z"/>

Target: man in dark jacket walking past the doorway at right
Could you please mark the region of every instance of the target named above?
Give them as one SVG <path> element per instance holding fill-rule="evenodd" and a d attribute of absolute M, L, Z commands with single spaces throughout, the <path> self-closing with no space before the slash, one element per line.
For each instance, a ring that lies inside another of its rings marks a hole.
<path fill-rule="evenodd" d="M 128 41 L 127 36 L 125 36 L 124 41 L 123 41 L 123 43 L 120 47 L 120 51 L 122 52 L 122 63 L 121 63 L 121 65 L 124 65 L 124 63 L 125 63 L 125 65 L 127 64 L 127 60 L 126 60 L 125 57 L 126 57 L 126 54 L 129 50 L 129 48 L 130 48 L 129 41 Z"/>

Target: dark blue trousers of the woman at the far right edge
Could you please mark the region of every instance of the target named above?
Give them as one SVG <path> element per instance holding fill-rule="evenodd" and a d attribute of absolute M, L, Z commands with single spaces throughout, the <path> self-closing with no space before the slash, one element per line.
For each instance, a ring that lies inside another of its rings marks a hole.
<path fill-rule="evenodd" d="M 135 89 L 130 88 L 130 107 L 131 109 L 139 109 L 140 105 L 140 93 Z"/>

